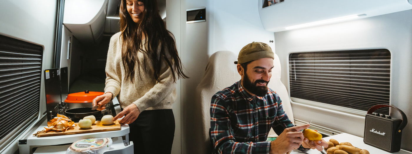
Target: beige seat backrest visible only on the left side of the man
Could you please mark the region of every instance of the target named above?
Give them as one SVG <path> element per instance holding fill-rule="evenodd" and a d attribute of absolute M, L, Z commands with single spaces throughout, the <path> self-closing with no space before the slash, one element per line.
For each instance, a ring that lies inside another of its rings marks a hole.
<path fill-rule="evenodd" d="M 199 85 L 196 87 L 195 108 L 200 108 L 200 113 L 194 116 L 193 134 L 195 140 L 188 143 L 189 147 L 196 147 L 199 154 L 210 154 L 210 104 L 212 96 L 233 85 L 241 79 L 236 70 L 237 55 L 231 51 L 218 51 L 209 58 L 206 71 Z"/>

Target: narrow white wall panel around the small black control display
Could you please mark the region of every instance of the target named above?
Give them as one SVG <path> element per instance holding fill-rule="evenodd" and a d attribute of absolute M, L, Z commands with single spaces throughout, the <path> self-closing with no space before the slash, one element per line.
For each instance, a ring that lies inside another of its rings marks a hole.
<path fill-rule="evenodd" d="M 211 21 L 211 8 L 206 0 L 187 0 L 185 8 L 206 7 L 206 22 L 185 22 L 185 51 L 182 52 L 185 73 L 190 78 L 182 80 L 182 154 L 203 153 L 205 145 L 201 144 L 199 131 L 199 102 L 194 102 L 196 87 L 199 84 L 208 60 L 208 23 Z M 186 18 L 185 18 L 186 21 Z"/>

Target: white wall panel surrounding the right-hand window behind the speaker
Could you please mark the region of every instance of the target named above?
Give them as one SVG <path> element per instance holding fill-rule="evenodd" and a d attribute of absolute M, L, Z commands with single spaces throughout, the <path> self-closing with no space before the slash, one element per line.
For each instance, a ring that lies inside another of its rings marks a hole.
<path fill-rule="evenodd" d="M 276 32 L 276 54 L 282 67 L 282 82 L 289 87 L 288 56 L 293 52 L 386 48 L 391 51 L 390 103 L 412 117 L 412 10 L 335 23 L 313 28 Z M 289 88 L 288 88 L 289 89 Z M 365 117 L 292 104 L 296 119 L 363 137 Z M 399 118 L 391 110 L 393 117 Z M 405 127 L 402 149 L 411 151 L 412 124 Z"/>

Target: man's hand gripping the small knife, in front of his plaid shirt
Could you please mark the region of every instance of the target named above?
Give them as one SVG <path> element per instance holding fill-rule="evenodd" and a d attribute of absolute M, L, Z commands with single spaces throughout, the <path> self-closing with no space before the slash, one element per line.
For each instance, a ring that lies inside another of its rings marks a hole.
<path fill-rule="evenodd" d="M 308 128 L 309 124 L 301 126 L 289 127 L 276 138 L 276 140 L 270 143 L 270 154 L 286 154 L 293 149 L 299 148 L 302 144 L 304 136 L 301 132 L 302 129 Z"/>

